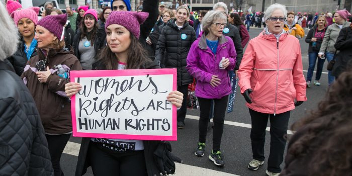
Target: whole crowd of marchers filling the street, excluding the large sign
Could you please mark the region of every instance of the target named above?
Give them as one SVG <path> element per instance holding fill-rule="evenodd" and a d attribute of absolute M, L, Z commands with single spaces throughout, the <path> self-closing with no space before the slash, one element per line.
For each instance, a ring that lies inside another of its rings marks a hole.
<path fill-rule="evenodd" d="M 199 13 L 188 6 L 167 9 L 157 0 L 144 0 L 137 12 L 129 0 L 111 0 L 102 10 L 82 6 L 78 13 L 69 6 L 63 13 L 50 2 L 44 9 L 38 20 L 38 7 L 22 9 L 13 0 L 0 4 L 0 33 L 7 34 L 0 35 L 0 175 L 64 175 L 60 158 L 72 134 L 71 97 L 82 88 L 70 82 L 71 70 L 162 68 L 177 69 L 177 91 L 166 100 L 177 108 L 179 130 L 187 128 L 189 84 L 195 85 L 200 107 L 199 141 L 192 144 L 196 156 L 206 154 L 215 165 L 225 165 L 225 112 L 238 81 L 251 118 L 248 169 L 255 171 L 265 161 L 270 120 L 267 175 L 352 172 L 347 11 L 335 12 L 333 20 L 328 12 L 306 20 L 306 13 L 302 17 L 273 4 L 256 13 L 254 25 L 265 24 L 265 29 L 249 40 L 252 13 L 229 13 L 222 2 Z M 306 77 L 299 43 L 305 25 L 310 28 Z M 288 137 L 291 111 L 307 101 L 316 60 L 314 84 L 320 85 L 325 57 L 327 92 L 315 110 L 290 127 L 295 134 Z M 206 141 L 210 127 L 212 145 Z M 174 162 L 182 160 L 167 141 L 83 137 L 75 175 L 84 175 L 88 167 L 96 176 L 166 175 L 175 172 Z"/>

